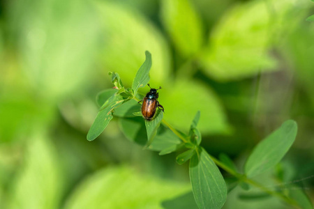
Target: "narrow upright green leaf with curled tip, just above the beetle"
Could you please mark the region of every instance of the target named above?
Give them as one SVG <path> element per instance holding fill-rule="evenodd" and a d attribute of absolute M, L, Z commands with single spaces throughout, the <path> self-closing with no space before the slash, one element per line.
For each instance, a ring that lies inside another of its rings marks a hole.
<path fill-rule="evenodd" d="M 136 72 L 133 80 L 132 89 L 134 94 L 137 93 L 138 88 L 144 87 L 149 82 L 149 70 L 151 70 L 151 53 L 145 52 L 146 59 L 140 69 Z"/>

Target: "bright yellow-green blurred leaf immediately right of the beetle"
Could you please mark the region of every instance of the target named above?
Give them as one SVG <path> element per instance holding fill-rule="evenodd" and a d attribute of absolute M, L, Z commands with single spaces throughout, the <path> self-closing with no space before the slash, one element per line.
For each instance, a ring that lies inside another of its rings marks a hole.
<path fill-rule="evenodd" d="M 158 101 L 165 108 L 165 120 L 179 130 L 189 130 L 186 121 L 195 117 L 195 109 L 202 112 L 197 127 L 202 134 L 229 131 L 227 118 L 218 97 L 208 86 L 193 80 L 179 79 L 159 92 Z"/>

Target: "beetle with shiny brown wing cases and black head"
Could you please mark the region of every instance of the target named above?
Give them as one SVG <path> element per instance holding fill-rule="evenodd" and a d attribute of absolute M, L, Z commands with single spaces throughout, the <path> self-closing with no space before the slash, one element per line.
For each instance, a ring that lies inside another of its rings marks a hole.
<path fill-rule="evenodd" d="M 149 86 L 149 84 L 147 84 Z M 151 86 L 149 86 L 151 88 Z M 158 89 L 160 89 L 159 87 Z M 151 119 L 154 118 L 154 115 L 156 113 L 156 109 L 161 109 L 163 112 L 165 109 L 163 109 L 163 106 L 161 106 L 158 102 L 158 93 L 156 88 L 151 88 L 149 93 L 146 94 L 146 96 L 143 99 L 142 103 L 142 115 L 147 121 L 151 121 Z"/>

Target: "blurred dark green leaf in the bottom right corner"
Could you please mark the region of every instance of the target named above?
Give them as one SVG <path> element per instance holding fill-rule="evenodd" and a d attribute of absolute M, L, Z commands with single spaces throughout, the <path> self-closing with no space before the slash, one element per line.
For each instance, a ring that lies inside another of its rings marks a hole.
<path fill-rule="evenodd" d="M 294 185 L 289 189 L 290 198 L 294 199 L 302 209 L 313 209 L 313 204 L 301 187 Z"/>

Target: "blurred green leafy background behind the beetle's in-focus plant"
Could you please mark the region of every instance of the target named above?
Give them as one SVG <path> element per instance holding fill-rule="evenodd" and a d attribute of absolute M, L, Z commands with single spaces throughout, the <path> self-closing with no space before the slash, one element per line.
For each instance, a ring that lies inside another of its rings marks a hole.
<path fill-rule="evenodd" d="M 142 150 L 119 118 L 86 139 L 97 93 L 112 88 L 107 72 L 130 86 L 145 50 L 165 120 L 187 132 L 200 110 L 202 145 L 239 169 L 297 121 L 280 168 L 313 202 L 313 13 L 310 0 L 1 0 L 0 208 L 167 208 L 190 191 L 188 164 Z M 276 186 L 273 171 L 258 180 Z M 224 208 L 287 208 L 241 192 Z"/>

